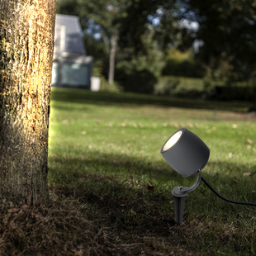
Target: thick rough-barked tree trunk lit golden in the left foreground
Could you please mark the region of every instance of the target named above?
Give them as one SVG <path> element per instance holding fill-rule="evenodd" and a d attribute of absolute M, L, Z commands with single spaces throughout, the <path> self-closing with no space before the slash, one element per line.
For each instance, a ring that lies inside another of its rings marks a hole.
<path fill-rule="evenodd" d="M 49 198 L 55 0 L 0 0 L 0 211 Z"/>

